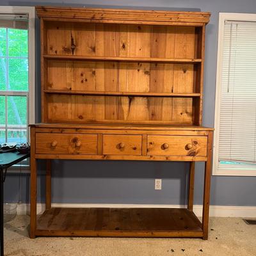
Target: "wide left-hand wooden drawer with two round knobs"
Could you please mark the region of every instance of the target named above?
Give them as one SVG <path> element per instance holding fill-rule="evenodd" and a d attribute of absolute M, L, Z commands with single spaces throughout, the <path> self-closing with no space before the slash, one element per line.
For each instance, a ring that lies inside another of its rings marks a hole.
<path fill-rule="evenodd" d="M 97 134 L 36 133 L 36 154 L 97 154 Z"/>

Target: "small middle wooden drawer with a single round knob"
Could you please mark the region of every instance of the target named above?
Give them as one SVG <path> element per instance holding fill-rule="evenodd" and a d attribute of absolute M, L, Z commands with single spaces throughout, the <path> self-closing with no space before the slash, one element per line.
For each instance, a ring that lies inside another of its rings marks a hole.
<path fill-rule="evenodd" d="M 103 135 L 104 155 L 141 155 L 141 135 Z"/>

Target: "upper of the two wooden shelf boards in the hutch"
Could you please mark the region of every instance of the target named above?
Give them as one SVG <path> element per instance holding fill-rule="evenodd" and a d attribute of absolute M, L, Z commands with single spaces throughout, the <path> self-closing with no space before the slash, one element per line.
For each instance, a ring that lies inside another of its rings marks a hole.
<path fill-rule="evenodd" d="M 74 56 L 44 54 L 49 60 L 88 60 L 88 61 L 126 61 L 126 62 L 153 62 L 153 63 L 201 63 L 202 59 L 177 59 L 177 58 L 136 58 L 136 57 L 99 57 L 99 56 Z"/>

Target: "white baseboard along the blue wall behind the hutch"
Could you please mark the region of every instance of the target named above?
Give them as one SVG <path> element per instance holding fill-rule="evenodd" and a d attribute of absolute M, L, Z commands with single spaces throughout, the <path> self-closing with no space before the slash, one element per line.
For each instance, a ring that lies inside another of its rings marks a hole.
<path fill-rule="evenodd" d="M 157 204 L 52 204 L 52 207 L 74 208 L 184 208 L 186 205 L 157 205 Z M 43 212 L 45 204 L 37 204 L 37 212 Z M 194 205 L 196 216 L 202 216 L 202 205 Z M 19 204 L 17 214 L 29 215 L 29 204 Z M 211 217 L 242 217 L 256 218 L 256 206 L 225 206 L 211 205 Z"/>

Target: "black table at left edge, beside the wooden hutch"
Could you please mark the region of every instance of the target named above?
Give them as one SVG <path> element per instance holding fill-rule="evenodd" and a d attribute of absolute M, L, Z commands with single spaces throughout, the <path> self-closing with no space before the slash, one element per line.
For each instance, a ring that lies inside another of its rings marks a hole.
<path fill-rule="evenodd" d="M 20 154 L 19 152 L 6 152 L 0 154 L 0 250 L 4 256 L 4 170 L 28 158 L 30 154 Z"/>

